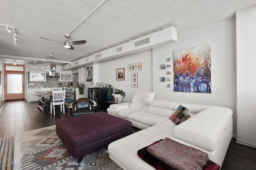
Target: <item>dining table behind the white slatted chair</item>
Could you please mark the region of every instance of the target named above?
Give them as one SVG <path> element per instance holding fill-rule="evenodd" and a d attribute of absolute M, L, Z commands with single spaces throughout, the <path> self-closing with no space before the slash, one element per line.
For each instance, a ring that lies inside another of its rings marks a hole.
<path fill-rule="evenodd" d="M 42 110 L 42 113 L 47 113 L 47 110 L 50 109 L 50 102 L 52 102 L 52 91 L 50 92 L 47 92 L 47 91 L 40 91 L 40 92 L 33 92 L 34 94 L 36 94 L 36 96 L 39 96 L 41 97 L 42 99 L 41 100 L 38 100 L 38 108 L 40 108 Z M 72 95 L 73 93 L 71 92 L 65 92 L 65 96 L 70 96 Z M 44 100 L 44 98 L 49 98 L 47 100 Z M 40 105 L 40 101 L 47 101 L 47 105 L 45 107 L 42 107 Z M 65 109 L 68 109 L 66 104 L 64 105 L 65 106 Z"/>

